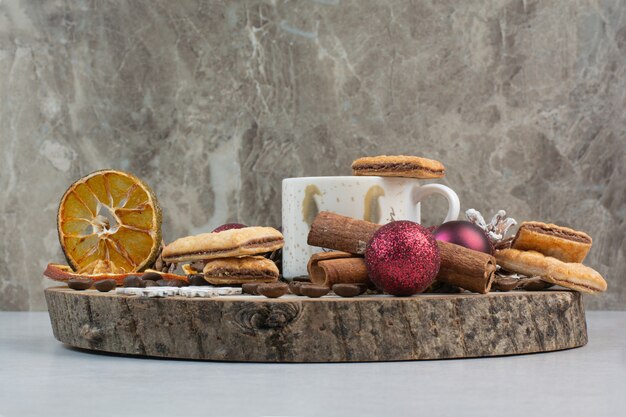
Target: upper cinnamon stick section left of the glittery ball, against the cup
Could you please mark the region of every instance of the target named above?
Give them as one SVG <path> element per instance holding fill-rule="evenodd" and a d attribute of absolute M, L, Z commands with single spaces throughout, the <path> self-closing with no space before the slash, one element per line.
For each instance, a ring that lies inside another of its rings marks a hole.
<path fill-rule="evenodd" d="M 307 243 L 311 246 L 363 255 L 367 242 L 379 227 L 380 225 L 376 223 L 322 211 L 311 223 Z"/>

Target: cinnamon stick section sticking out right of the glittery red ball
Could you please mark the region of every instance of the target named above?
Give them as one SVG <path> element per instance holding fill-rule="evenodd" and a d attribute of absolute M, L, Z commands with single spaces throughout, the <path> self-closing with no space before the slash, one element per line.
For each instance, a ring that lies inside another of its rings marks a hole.
<path fill-rule="evenodd" d="M 489 292 L 496 272 L 493 256 L 441 240 L 437 245 L 441 256 L 437 281 L 481 294 Z"/>

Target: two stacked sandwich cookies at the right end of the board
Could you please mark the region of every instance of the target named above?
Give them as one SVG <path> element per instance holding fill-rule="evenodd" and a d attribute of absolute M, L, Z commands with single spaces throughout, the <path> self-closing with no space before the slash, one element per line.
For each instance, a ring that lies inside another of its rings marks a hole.
<path fill-rule="evenodd" d="M 496 251 L 498 265 L 527 276 L 585 293 L 606 290 L 606 281 L 582 264 L 591 237 L 567 227 L 541 222 L 520 225 L 511 247 Z"/>

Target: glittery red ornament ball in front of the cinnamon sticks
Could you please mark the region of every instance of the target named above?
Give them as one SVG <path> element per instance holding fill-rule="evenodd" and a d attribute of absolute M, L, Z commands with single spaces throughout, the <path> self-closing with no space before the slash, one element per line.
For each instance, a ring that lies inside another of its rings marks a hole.
<path fill-rule="evenodd" d="M 392 295 L 424 291 L 439 272 L 439 248 L 425 227 L 396 221 L 374 233 L 365 249 L 370 280 Z"/>

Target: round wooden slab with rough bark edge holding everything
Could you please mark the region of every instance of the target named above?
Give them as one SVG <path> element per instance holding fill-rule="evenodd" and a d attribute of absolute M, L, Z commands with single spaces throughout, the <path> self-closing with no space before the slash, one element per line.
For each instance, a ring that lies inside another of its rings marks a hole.
<path fill-rule="evenodd" d="M 546 352 L 587 343 L 571 291 L 138 298 L 49 288 L 54 336 L 128 355 L 254 362 L 354 362 Z"/>

